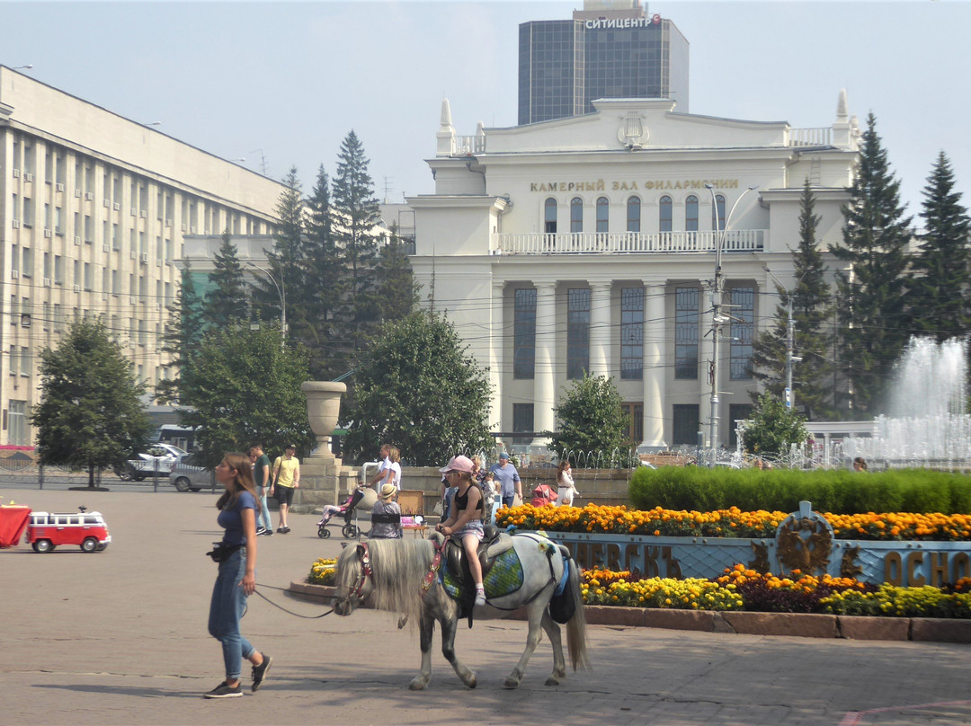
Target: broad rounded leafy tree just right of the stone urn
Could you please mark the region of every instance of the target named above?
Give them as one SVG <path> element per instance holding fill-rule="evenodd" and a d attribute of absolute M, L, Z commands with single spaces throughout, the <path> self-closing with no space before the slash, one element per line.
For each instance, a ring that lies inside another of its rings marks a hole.
<path fill-rule="evenodd" d="M 444 317 L 419 311 L 387 323 L 354 380 L 357 395 L 346 416 L 352 457 L 387 443 L 410 463 L 430 466 L 493 446 L 485 372 Z"/>

